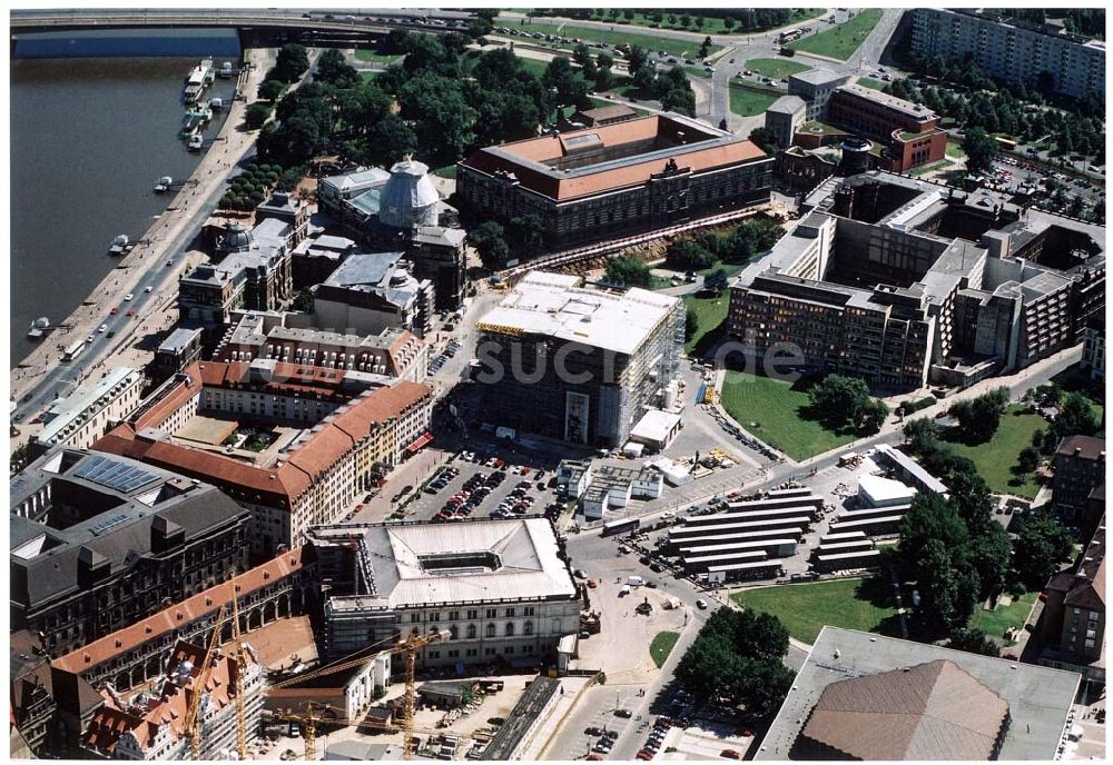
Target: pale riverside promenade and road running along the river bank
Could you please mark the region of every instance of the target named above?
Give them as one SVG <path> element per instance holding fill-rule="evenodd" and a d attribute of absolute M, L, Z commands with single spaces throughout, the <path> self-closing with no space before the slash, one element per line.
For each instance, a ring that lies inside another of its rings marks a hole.
<path fill-rule="evenodd" d="M 98 377 L 104 360 L 111 359 L 121 348 L 134 342 L 147 318 L 173 308 L 177 281 L 184 271 L 183 264 L 175 260 L 175 257 L 196 236 L 198 227 L 211 211 L 237 163 L 254 149 L 256 133 L 242 129 L 244 112 L 256 100 L 258 85 L 273 61 L 273 50 L 245 51 L 245 67 L 236 88 L 237 99 L 233 101 L 220 132 L 206 148 L 194 173 L 136 247 L 120 259 L 117 267 L 105 276 L 69 317 L 59 322 L 57 329 L 43 338 L 42 345 L 11 370 L 12 397 L 22 400 L 28 394 L 32 395 L 32 399 L 28 401 L 28 410 L 32 414 L 23 418 L 22 430 L 30 429 L 27 426 L 30 425 L 33 413 L 45 408 L 41 405 L 49 403 L 53 393 L 58 391 L 57 386 L 43 384 L 51 381 L 48 379 L 51 374 L 59 372 L 62 348 L 90 335 L 97 338 L 82 356 L 66 365 L 70 376 L 60 378 L 67 386 L 79 385 L 90 377 Z M 157 175 L 157 169 L 152 168 L 151 177 Z M 175 260 L 173 267 L 165 265 L 167 260 Z M 145 286 L 151 286 L 152 292 L 146 294 Z M 131 302 L 125 302 L 124 296 L 129 292 L 135 298 Z M 110 317 L 114 307 L 119 309 L 120 315 L 134 308 L 137 316 L 119 324 L 119 316 Z M 110 321 L 117 336 L 108 340 L 97 332 L 97 328 Z M 53 393 L 48 388 L 53 389 Z"/>

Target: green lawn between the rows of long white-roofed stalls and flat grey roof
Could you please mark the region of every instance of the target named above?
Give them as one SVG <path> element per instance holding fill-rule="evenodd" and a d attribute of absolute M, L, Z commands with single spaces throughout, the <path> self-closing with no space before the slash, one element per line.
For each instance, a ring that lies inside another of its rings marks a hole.
<path fill-rule="evenodd" d="M 743 589 L 730 598 L 772 614 L 804 643 L 815 643 L 824 625 L 900 636 L 893 587 L 880 577 Z"/>

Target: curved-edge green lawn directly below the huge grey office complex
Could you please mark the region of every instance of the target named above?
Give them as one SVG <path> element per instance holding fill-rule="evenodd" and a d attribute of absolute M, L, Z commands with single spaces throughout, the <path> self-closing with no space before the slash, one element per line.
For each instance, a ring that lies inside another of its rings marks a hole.
<path fill-rule="evenodd" d="M 723 383 L 722 406 L 728 414 L 756 437 L 796 460 L 854 440 L 853 434 L 834 433 L 807 419 L 805 413 L 810 404 L 801 385 L 741 371 L 728 371 Z"/>

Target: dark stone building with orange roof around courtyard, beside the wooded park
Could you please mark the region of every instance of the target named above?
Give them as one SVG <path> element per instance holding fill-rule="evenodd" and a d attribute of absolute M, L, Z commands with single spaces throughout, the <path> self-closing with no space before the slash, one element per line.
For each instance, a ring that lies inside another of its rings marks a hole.
<path fill-rule="evenodd" d="M 540 216 L 559 247 L 768 201 L 772 162 L 747 139 L 662 113 L 480 149 L 456 183 L 496 218 Z"/>

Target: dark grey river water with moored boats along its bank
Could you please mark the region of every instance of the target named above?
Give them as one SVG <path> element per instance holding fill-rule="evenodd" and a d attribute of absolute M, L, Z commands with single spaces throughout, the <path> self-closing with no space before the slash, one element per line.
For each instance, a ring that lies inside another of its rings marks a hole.
<path fill-rule="evenodd" d="M 178 138 L 183 81 L 197 61 L 11 62 L 12 366 L 33 348 L 36 318 L 63 321 L 115 267 L 112 238 L 138 239 L 166 209 L 174 195 L 155 195 L 155 181 L 184 180 L 197 166 L 200 155 Z M 217 79 L 206 98 L 227 102 L 234 88 Z M 206 137 L 221 123 L 214 119 Z"/>

